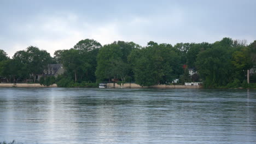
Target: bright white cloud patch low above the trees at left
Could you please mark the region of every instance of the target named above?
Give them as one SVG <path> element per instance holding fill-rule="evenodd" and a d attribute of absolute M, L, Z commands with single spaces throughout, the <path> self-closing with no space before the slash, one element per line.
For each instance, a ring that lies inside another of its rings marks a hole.
<path fill-rule="evenodd" d="M 115 23 L 104 23 L 101 26 L 79 20 L 75 14 L 39 15 L 34 21 L 21 23 L 15 29 L 16 38 L 5 44 L 9 56 L 16 51 L 33 45 L 46 50 L 53 56 L 54 51 L 70 49 L 79 40 L 92 38 L 102 44 L 121 39 Z M 22 39 L 19 39 L 21 37 Z"/>

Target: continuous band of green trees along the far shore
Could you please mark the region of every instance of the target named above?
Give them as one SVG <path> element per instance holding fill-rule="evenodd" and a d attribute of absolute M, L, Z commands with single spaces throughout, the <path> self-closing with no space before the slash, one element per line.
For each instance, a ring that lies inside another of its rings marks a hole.
<path fill-rule="evenodd" d="M 37 82 L 36 75 L 54 63 L 65 68 L 63 75 L 51 80 L 60 87 L 97 86 L 95 83 L 111 79 L 141 86 L 172 85 L 179 79 L 179 83 L 202 81 L 208 88 L 248 87 L 247 71 L 256 65 L 256 40 L 249 45 L 223 38 L 212 44 L 174 46 L 149 41 L 142 47 L 125 41 L 102 46 L 85 39 L 69 50 L 55 51 L 54 57 L 34 46 L 17 51 L 12 58 L 0 50 L 0 77 L 7 82 Z M 190 75 L 188 68 L 197 73 Z M 255 74 L 251 75 L 251 81 L 255 80 Z"/>

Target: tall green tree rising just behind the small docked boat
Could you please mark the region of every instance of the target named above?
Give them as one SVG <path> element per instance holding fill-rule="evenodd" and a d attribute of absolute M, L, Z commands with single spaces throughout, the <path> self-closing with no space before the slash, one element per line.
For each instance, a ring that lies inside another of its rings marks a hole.
<path fill-rule="evenodd" d="M 133 49 L 139 48 L 141 46 L 125 41 L 114 41 L 110 45 L 104 45 L 97 56 L 97 79 L 101 81 L 115 78 L 125 82 L 126 77 L 132 77 L 128 57 Z"/>

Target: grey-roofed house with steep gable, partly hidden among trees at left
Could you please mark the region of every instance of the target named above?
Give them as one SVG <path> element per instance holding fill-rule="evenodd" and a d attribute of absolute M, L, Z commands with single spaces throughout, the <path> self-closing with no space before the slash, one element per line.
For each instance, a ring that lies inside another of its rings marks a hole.
<path fill-rule="evenodd" d="M 63 74 L 65 69 L 62 64 L 48 64 L 44 69 L 43 74 L 38 75 L 37 80 L 40 80 L 43 76 L 55 76 Z"/>

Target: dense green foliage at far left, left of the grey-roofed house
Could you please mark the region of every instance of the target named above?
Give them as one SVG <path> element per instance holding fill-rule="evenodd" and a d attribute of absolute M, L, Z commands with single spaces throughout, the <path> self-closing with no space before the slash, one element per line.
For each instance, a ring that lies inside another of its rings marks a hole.
<path fill-rule="evenodd" d="M 42 73 L 49 63 L 54 63 L 50 53 L 30 46 L 26 50 L 16 52 L 12 59 L 1 61 L 0 75 L 12 81 L 32 79 L 36 82 L 36 75 Z"/>

